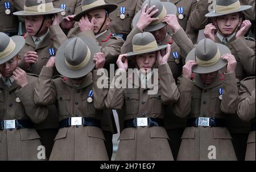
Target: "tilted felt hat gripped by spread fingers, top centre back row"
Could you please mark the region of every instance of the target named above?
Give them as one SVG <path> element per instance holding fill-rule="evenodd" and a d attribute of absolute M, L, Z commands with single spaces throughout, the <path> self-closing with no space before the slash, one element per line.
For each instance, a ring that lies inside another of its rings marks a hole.
<path fill-rule="evenodd" d="M 158 9 L 159 11 L 156 12 L 156 14 L 152 16 L 152 18 L 159 18 L 159 19 L 156 21 L 152 21 L 146 28 L 144 28 L 145 32 L 153 32 L 163 27 L 166 27 L 167 23 L 162 22 L 163 18 L 167 14 L 176 15 L 176 12 L 177 12 L 177 7 L 174 5 L 174 3 L 171 3 L 171 2 L 160 2 L 159 0 L 146 0 L 142 4 L 141 8 L 143 8 L 146 4 L 148 5 L 147 9 L 155 5 L 154 10 Z M 154 10 L 152 10 L 151 12 L 153 12 Z M 133 18 L 133 27 L 136 27 L 140 16 L 141 16 L 141 10 L 139 10 Z"/>

